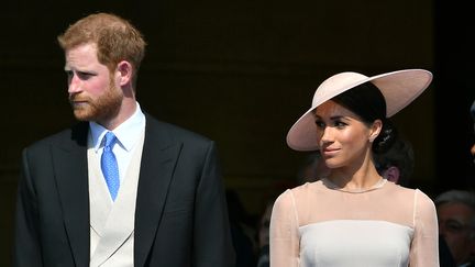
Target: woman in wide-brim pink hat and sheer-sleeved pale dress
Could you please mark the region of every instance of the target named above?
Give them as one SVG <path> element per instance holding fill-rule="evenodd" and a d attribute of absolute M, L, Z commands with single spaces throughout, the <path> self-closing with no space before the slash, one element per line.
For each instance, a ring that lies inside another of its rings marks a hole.
<path fill-rule="evenodd" d="M 432 200 L 382 178 L 373 155 L 395 140 L 389 116 L 432 80 L 422 69 L 375 77 L 342 73 L 317 89 L 287 135 L 296 151 L 319 149 L 331 169 L 281 193 L 270 221 L 270 266 L 439 266 Z"/>

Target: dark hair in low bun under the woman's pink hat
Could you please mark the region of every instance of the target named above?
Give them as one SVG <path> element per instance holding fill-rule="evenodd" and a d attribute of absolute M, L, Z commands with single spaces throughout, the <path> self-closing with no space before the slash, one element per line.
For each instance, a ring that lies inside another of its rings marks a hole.
<path fill-rule="evenodd" d="M 340 93 L 332 100 L 357 114 L 367 125 L 376 120 L 383 122 L 383 129 L 373 142 L 374 153 L 384 153 L 391 147 L 398 133 L 386 118 L 386 100 L 375 85 L 365 82 Z"/>

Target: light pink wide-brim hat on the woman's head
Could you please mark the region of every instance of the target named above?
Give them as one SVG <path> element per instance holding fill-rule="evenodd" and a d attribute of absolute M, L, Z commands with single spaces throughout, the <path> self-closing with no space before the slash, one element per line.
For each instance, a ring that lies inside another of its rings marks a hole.
<path fill-rule="evenodd" d="M 317 125 L 313 110 L 333 97 L 371 81 L 383 92 L 386 116 L 389 118 L 422 93 L 432 80 L 424 69 L 405 69 L 373 77 L 357 73 L 341 73 L 324 80 L 314 92 L 311 108 L 291 126 L 287 144 L 295 151 L 317 151 Z"/>

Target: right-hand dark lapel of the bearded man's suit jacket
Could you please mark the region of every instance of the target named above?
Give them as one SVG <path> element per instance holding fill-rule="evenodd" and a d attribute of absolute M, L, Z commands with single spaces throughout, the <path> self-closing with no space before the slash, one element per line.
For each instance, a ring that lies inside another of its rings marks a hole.
<path fill-rule="evenodd" d="M 146 118 L 145 141 L 135 208 L 134 266 L 144 266 L 162 218 L 181 144 L 172 141 L 153 118 Z"/>

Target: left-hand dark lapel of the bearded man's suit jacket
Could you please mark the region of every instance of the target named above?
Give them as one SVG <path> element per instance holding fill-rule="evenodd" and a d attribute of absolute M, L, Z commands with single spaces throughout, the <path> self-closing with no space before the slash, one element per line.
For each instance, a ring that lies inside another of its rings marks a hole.
<path fill-rule="evenodd" d="M 76 266 L 89 266 L 89 192 L 87 171 L 88 124 L 80 123 L 70 136 L 52 147 L 56 185 L 66 233 Z"/>

